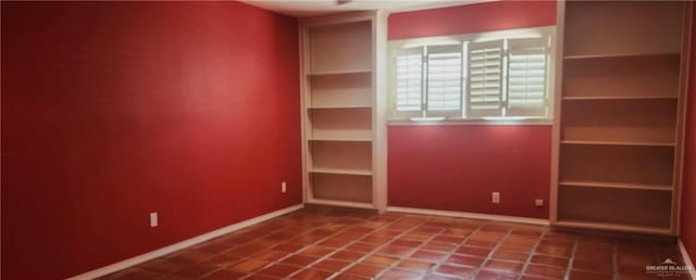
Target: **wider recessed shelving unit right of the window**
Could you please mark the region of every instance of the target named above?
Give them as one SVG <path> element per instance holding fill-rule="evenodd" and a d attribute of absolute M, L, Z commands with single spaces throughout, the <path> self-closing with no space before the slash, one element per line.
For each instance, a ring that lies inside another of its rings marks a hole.
<path fill-rule="evenodd" d="M 552 226 L 678 233 L 691 5 L 559 2 Z"/>

